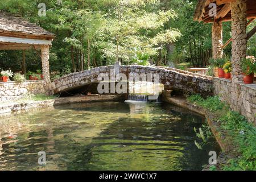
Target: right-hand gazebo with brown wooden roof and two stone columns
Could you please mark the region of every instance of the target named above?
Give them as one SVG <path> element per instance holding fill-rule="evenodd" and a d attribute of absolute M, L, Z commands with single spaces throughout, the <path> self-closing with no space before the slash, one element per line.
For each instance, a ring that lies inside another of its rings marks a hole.
<path fill-rule="evenodd" d="M 212 4 L 214 3 L 214 4 Z M 216 6 L 213 6 L 216 5 Z M 216 11 L 214 11 L 216 7 Z M 216 14 L 213 15 L 213 12 Z M 246 57 L 247 40 L 256 32 L 248 34 L 246 27 L 256 18 L 256 0 L 199 0 L 194 20 L 212 24 L 213 58 L 223 55 L 222 49 L 232 42 L 232 80 L 242 81 L 240 60 Z M 222 22 L 232 21 L 232 38 L 222 42 Z"/>

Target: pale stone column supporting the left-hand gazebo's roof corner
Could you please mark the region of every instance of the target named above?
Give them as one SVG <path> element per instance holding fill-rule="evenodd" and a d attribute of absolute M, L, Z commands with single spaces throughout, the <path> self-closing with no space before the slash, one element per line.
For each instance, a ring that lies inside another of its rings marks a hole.
<path fill-rule="evenodd" d="M 41 53 L 42 53 L 42 68 L 43 68 L 43 77 L 44 80 L 46 80 L 46 83 L 51 82 L 51 78 L 49 75 L 49 46 L 42 46 L 41 47 Z"/>

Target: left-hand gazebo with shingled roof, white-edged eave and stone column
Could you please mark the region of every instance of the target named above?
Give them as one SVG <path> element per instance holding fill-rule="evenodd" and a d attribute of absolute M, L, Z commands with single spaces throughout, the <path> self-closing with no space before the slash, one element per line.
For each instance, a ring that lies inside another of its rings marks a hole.
<path fill-rule="evenodd" d="M 0 11 L 0 51 L 40 49 L 43 77 L 51 82 L 49 75 L 49 47 L 55 35 L 20 16 Z"/>

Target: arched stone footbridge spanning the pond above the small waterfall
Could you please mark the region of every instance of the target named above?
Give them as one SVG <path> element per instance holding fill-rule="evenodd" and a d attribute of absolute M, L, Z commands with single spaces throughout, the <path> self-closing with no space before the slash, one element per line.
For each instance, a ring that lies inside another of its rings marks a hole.
<path fill-rule="evenodd" d="M 97 67 L 90 70 L 71 73 L 63 77 L 57 78 L 49 88 L 52 93 L 61 93 L 84 85 L 92 84 L 98 81 L 98 75 L 112 76 L 113 70 L 115 74 L 123 73 L 129 77 L 129 74 L 158 74 L 159 83 L 168 85 L 169 88 L 184 90 L 189 93 L 199 93 L 203 95 L 212 94 L 212 77 L 199 75 L 175 68 L 165 67 L 145 67 L 141 65 L 120 65 Z"/>

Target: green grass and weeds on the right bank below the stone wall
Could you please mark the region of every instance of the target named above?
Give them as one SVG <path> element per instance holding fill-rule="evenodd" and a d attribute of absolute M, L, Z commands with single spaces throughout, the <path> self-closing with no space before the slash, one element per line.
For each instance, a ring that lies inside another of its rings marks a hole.
<path fill-rule="evenodd" d="M 216 121 L 220 123 L 221 130 L 225 131 L 234 142 L 234 146 L 238 147 L 237 158 L 229 160 L 228 164 L 225 164 L 222 169 L 228 171 L 255 171 L 256 127 L 252 123 L 249 123 L 243 115 L 230 110 L 218 96 L 204 99 L 200 95 L 192 95 L 187 100 L 217 115 Z"/>

